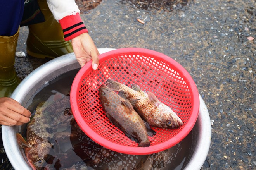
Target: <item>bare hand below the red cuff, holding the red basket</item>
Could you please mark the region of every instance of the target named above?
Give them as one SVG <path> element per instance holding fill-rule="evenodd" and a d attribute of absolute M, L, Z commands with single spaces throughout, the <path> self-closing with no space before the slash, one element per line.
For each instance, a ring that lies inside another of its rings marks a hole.
<path fill-rule="evenodd" d="M 76 59 L 81 67 L 92 59 L 92 68 L 96 70 L 99 65 L 98 55 L 100 54 L 88 33 L 80 34 L 71 39 Z"/>

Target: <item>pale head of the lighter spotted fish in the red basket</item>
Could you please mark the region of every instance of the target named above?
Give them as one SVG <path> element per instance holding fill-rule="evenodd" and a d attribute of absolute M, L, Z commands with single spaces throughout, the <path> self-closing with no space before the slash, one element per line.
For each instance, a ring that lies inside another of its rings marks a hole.
<path fill-rule="evenodd" d="M 160 116 L 156 118 L 157 124 L 160 127 L 175 129 L 183 125 L 182 120 L 176 115 L 170 107 L 161 103 L 159 106 Z"/>

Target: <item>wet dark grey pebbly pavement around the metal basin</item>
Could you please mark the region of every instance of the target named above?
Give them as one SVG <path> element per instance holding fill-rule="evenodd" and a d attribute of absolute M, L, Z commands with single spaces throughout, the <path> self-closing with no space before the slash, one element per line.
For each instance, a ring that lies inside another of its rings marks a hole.
<path fill-rule="evenodd" d="M 212 123 L 202 170 L 253 170 L 255 7 L 255 0 L 102 0 L 81 16 L 98 48 L 148 48 L 188 70 Z M 17 51 L 26 52 L 27 35 L 22 27 Z M 48 60 L 16 57 L 17 74 L 23 79 Z M 0 169 L 12 169 L 0 146 Z"/>

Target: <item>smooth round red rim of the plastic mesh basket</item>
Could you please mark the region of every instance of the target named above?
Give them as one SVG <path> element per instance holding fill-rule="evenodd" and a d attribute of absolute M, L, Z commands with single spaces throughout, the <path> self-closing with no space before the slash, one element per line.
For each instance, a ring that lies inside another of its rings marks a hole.
<path fill-rule="evenodd" d="M 113 151 L 119 152 L 119 153 L 125 153 L 125 154 L 132 154 L 132 155 L 147 155 L 152 153 L 157 153 L 159 151 L 163 151 L 165 149 L 171 148 L 175 144 L 179 143 L 184 139 L 189 132 L 192 130 L 192 128 L 195 125 L 195 122 L 197 120 L 198 114 L 199 114 L 199 93 L 197 90 L 197 87 L 195 85 L 194 80 L 190 76 L 190 74 L 185 70 L 185 68 L 182 67 L 178 62 L 176 62 L 171 57 L 168 57 L 167 55 L 164 55 L 163 53 L 156 52 L 154 50 L 149 50 L 145 48 L 119 48 L 116 50 L 111 50 L 106 53 L 102 53 L 99 55 L 99 64 L 103 62 L 104 60 L 108 60 L 109 58 L 115 57 L 115 56 L 122 56 L 122 55 L 128 55 L 128 53 L 132 53 L 133 55 L 140 55 L 140 56 L 148 56 L 158 59 L 158 60 L 164 60 L 166 64 L 171 64 L 173 69 L 179 70 L 179 74 L 181 77 L 186 77 L 187 79 L 187 86 L 191 88 L 191 94 L 192 94 L 192 110 L 189 120 L 187 121 L 186 125 L 183 127 L 183 129 L 178 132 L 175 136 L 171 137 L 167 141 L 164 141 L 159 144 L 155 144 L 149 147 L 134 147 L 134 146 L 124 146 L 116 143 L 112 143 L 111 141 L 103 138 L 99 134 L 95 133 L 83 120 L 82 115 L 79 112 L 78 103 L 76 101 L 76 96 L 78 96 L 78 91 L 80 87 L 80 82 L 83 79 L 83 77 L 92 70 L 92 60 L 87 62 L 78 72 L 76 77 L 74 78 L 73 84 L 71 86 L 70 91 L 70 102 L 71 102 L 71 110 L 73 112 L 74 118 L 80 128 L 85 132 L 85 134 L 90 137 L 93 141 L 100 144 L 101 146 L 104 146 L 105 148 L 111 149 Z"/>

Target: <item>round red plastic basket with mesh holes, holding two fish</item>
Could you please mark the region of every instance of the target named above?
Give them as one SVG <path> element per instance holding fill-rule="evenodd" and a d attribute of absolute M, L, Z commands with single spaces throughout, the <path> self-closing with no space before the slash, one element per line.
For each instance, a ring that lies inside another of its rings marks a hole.
<path fill-rule="evenodd" d="M 121 48 L 99 55 L 97 70 L 88 62 L 78 72 L 71 87 L 71 109 L 81 129 L 100 145 L 125 154 L 145 155 L 163 151 L 179 143 L 194 127 L 199 112 L 199 94 L 189 73 L 172 58 L 144 48 Z M 178 129 L 152 127 L 149 147 L 138 147 L 112 125 L 99 100 L 99 87 L 107 79 L 128 87 L 137 84 L 153 92 L 181 118 Z"/>

